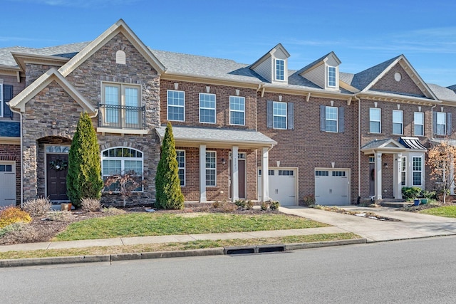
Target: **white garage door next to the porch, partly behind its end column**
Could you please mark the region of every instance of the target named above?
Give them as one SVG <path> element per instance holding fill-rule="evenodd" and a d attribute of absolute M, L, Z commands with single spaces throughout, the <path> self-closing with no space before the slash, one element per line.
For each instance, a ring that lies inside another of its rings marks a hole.
<path fill-rule="evenodd" d="M 296 172 L 295 168 L 269 167 L 269 197 L 279 201 L 281 206 L 296 205 Z M 258 174 L 258 197 L 261 197 L 261 172 Z"/>

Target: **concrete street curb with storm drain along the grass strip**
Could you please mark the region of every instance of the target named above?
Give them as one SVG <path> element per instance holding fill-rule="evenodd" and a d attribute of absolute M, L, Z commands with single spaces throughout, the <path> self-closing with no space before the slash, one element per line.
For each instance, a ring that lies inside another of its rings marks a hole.
<path fill-rule="evenodd" d="M 229 250 L 236 248 L 255 248 L 254 254 L 258 254 L 258 248 L 278 247 L 283 246 L 284 251 L 292 251 L 306 248 L 318 248 L 328 246 L 351 245 L 358 243 L 367 243 L 366 239 L 350 239 L 343 241 L 326 241 L 315 243 L 289 243 L 280 245 L 265 245 L 265 246 L 239 246 L 239 247 L 220 247 L 208 249 L 195 249 L 188 251 L 157 251 L 144 253 L 117 253 L 105 254 L 99 256 L 61 256 L 50 258 L 14 258 L 9 260 L 0 260 L 0 268 L 20 267 L 20 266 L 46 266 L 56 264 L 72 264 L 72 263 L 96 263 L 96 262 L 115 262 L 115 261 L 133 261 L 146 260 L 150 258 L 183 258 L 190 256 L 222 256 L 229 255 Z"/>

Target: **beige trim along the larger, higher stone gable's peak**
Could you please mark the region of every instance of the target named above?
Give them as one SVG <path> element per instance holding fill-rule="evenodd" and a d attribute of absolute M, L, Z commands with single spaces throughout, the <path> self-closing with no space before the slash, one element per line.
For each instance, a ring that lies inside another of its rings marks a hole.
<path fill-rule="evenodd" d="M 152 67 L 155 68 L 155 70 L 157 70 L 158 75 L 165 71 L 165 66 L 162 65 L 160 61 L 158 61 L 157 57 L 155 57 L 155 55 L 152 54 L 152 52 L 150 52 L 149 48 L 147 48 L 147 46 L 145 46 L 145 44 L 142 43 L 140 38 L 138 38 L 138 36 L 136 36 L 136 34 L 133 33 L 133 31 L 122 19 L 119 19 L 119 21 L 110 26 L 110 28 L 108 28 L 100 36 L 95 38 L 94 41 L 88 43 L 88 45 L 85 48 L 83 48 L 76 56 L 71 58 L 71 60 L 68 61 L 68 63 L 59 68 L 58 71 L 63 75 L 63 77 L 66 77 L 118 33 L 123 33 L 123 35 L 128 39 L 128 41 L 130 41 L 130 43 L 132 43 L 133 46 L 135 46 L 135 48 L 141 53 L 142 56 L 144 56 L 144 58 L 150 63 L 150 65 L 152 65 Z"/>

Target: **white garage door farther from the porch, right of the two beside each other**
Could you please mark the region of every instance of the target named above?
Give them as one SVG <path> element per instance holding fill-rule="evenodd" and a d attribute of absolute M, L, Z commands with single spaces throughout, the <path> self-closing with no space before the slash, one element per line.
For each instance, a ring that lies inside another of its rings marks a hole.
<path fill-rule="evenodd" d="M 348 170 L 316 169 L 315 200 L 318 205 L 348 205 Z"/>

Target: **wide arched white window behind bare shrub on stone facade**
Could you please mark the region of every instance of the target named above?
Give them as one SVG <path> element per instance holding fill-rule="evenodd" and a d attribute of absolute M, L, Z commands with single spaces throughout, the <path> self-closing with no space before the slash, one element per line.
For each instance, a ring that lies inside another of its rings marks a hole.
<path fill-rule="evenodd" d="M 138 182 L 142 181 L 143 172 L 142 152 L 130 147 L 113 147 L 101 152 L 101 172 L 103 180 L 115 174 L 134 172 L 138 175 Z M 118 184 L 112 184 L 109 189 L 118 192 Z M 142 192 L 142 183 L 135 192 Z"/>

